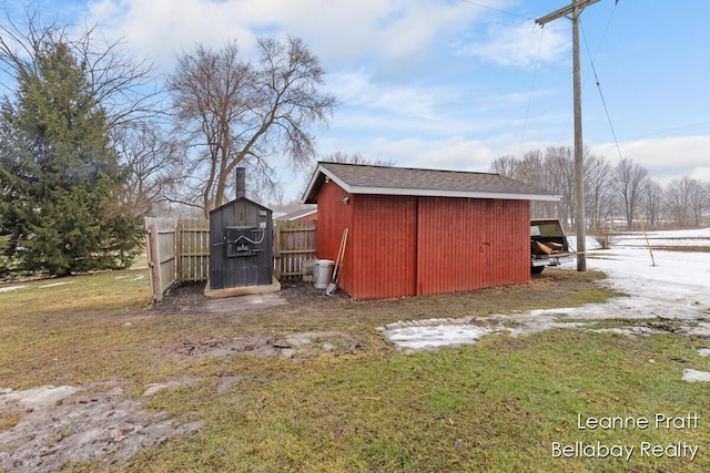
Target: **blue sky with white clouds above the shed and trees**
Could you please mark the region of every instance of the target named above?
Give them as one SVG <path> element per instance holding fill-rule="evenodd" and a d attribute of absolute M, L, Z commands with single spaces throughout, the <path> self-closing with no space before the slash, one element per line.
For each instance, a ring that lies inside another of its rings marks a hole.
<path fill-rule="evenodd" d="M 572 146 L 570 0 L 39 0 L 97 23 L 160 74 L 200 43 L 300 37 L 339 105 L 317 152 L 398 166 L 489 171 L 500 156 Z M 19 1 L 4 1 L 18 6 Z M 584 142 L 661 185 L 710 181 L 710 2 L 600 0 L 581 14 Z M 598 85 L 597 85 L 598 83 Z M 298 197 L 306 176 L 282 176 Z"/>

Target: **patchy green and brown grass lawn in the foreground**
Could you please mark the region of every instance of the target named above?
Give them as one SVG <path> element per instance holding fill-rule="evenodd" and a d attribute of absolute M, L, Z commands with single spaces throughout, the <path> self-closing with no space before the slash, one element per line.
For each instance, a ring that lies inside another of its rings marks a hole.
<path fill-rule="evenodd" d="M 65 463 L 65 471 L 710 471 L 710 385 L 681 380 L 684 368 L 710 371 L 710 358 L 698 353 L 707 339 L 631 338 L 587 326 L 407 354 L 376 330 L 397 320 L 600 302 L 617 296 L 602 278 L 546 270 L 529 285 L 369 302 L 302 298 L 292 288 L 286 306 L 231 312 L 205 311 L 200 301 L 151 309 L 144 269 L 27 282 L 0 292 L 0 389 L 115 381 L 143 400 L 151 383 L 190 380 L 142 409 L 201 421 L 197 433 L 126 462 Z M 53 282 L 69 284 L 40 287 Z M 245 335 L 326 330 L 352 336 L 356 349 L 297 361 L 181 351 Z M 657 414 L 673 423 L 656 428 Z M 649 426 L 579 425 L 610 417 L 648 419 Z M 0 433 L 18 422 L 0 410 Z M 681 450 L 666 449 L 678 442 Z M 683 443 L 699 446 L 692 461 Z M 613 449 L 607 457 L 556 457 L 566 445 Z M 652 445 L 666 456 L 656 457 Z M 622 448 L 635 449 L 629 459 L 612 457 Z"/>

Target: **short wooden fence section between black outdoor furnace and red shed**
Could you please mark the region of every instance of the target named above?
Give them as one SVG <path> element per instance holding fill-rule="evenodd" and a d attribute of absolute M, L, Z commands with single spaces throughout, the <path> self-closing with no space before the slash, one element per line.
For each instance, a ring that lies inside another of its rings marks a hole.
<path fill-rule="evenodd" d="M 314 220 L 274 223 L 274 276 L 278 280 L 301 278 L 303 261 L 315 259 Z"/>

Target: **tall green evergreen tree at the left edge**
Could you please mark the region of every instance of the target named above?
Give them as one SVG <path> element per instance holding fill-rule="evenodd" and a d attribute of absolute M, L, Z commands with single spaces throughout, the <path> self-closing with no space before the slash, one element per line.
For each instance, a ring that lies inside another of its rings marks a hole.
<path fill-rule="evenodd" d="M 87 63 L 48 40 L 16 71 L 0 110 L 0 237 L 11 268 L 67 275 L 125 267 L 140 219 L 120 204 L 125 175 Z"/>

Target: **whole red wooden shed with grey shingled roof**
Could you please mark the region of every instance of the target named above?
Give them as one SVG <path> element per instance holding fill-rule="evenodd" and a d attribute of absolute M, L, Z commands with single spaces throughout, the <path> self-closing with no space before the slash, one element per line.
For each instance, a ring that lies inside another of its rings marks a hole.
<path fill-rule="evenodd" d="M 318 163 L 316 254 L 347 247 L 338 287 L 355 299 L 530 280 L 530 200 L 560 196 L 498 174 Z"/>

